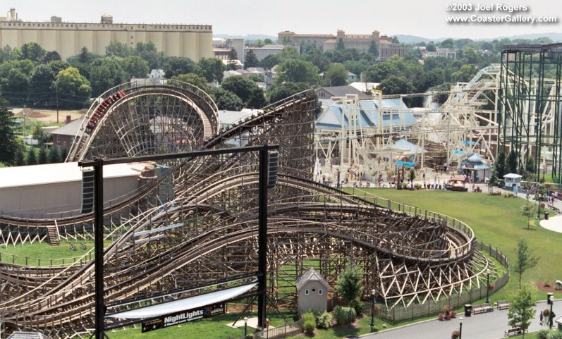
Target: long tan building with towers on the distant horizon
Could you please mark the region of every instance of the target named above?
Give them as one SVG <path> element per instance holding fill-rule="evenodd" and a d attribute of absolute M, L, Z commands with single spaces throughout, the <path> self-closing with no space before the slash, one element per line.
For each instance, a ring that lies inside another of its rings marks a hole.
<path fill-rule="evenodd" d="M 279 32 L 277 42 L 283 45 L 300 45 L 312 43 L 322 51 L 329 51 L 336 49 L 338 42 L 343 42 L 343 45 L 349 49 L 358 49 L 358 51 L 369 51 L 372 42 L 377 44 L 379 49 L 379 61 L 384 61 L 393 55 L 405 56 L 406 49 L 401 47 L 400 44 L 394 44 L 391 37 L 380 35 L 378 30 L 372 34 L 346 34 L 343 30 L 338 30 L 336 35 L 310 35 L 310 34 L 296 34 L 295 32 L 283 31 Z"/>

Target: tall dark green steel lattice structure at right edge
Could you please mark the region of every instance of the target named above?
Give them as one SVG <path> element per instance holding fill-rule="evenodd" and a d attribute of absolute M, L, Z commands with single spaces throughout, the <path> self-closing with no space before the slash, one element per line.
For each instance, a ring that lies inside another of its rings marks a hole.
<path fill-rule="evenodd" d="M 562 44 L 513 44 L 501 51 L 501 150 L 518 167 L 535 159 L 535 178 L 551 168 L 562 183 Z"/>

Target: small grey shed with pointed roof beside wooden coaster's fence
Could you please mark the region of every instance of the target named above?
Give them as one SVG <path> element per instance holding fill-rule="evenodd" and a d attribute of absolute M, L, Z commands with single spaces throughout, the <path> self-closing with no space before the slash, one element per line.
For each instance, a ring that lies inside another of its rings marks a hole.
<path fill-rule="evenodd" d="M 330 284 L 315 269 L 308 269 L 297 279 L 298 312 L 307 309 L 328 309 L 328 291 Z"/>

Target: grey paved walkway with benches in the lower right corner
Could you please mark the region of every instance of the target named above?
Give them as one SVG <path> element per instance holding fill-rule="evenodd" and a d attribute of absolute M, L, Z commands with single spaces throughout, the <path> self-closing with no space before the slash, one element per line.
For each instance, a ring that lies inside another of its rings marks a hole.
<path fill-rule="evenodd" d="M 494 302 L 494 300 L 491 300 Z M 546 302 L 537 302 L 536 309 L 546 309 Z M 554 301 L 554 314 L 561 314 L 562 302 Z M 539 324 L 538 312 L 535 313 L 535 319 L 531 321 L 529 332 L 539 331 L 541 328 L 548 328 L 546 321 L 544 325 Z M 456 319 L 448 321 L 428 320 L 420 323 L 413 323 L 406 326 L 392 328 L 387 331 L 370 333 L 362 335 L 361 338 L 370 339 L 446 339 L 451 338 L 451 333 L 459 328 L 458 318 L 463 317 L 463 338 L 465 339 L 498 339 L 504 338 L 503 333 L 511 326 L 508 325 L 508 310 L 494 309 L 494 312 L 474 314 L 472 316 L 464 316 L 462 313 L 457 314 Z M 377 319 L 377 328 L 380 328 L 381 321 Z M 552 328 L 556 328 L 556 321 Z"/>

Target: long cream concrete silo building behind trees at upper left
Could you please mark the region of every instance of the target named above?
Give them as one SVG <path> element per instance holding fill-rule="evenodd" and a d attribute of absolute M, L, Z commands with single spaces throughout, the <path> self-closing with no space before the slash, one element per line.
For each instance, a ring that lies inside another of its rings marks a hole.
<path fill-rule="evenodd" d="M 100 23 L 64 22 L 53 16 L 49 21 L 21 20 L 14 8 L 8 17 L 0 17 L 0 47 L 21 47 L 36 42 L 47 51 L 57 51 L 63 59 L 80 53 L 83 47 L 95 54 L 105 54 L 110 42 L 130 47 L 152 42 L 167 56 L 185 56 L 194 61 L 213 56 L 212 25 L 170 25 L 114 23 L 104 14 Z"/>

